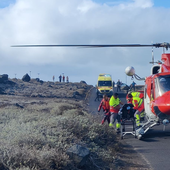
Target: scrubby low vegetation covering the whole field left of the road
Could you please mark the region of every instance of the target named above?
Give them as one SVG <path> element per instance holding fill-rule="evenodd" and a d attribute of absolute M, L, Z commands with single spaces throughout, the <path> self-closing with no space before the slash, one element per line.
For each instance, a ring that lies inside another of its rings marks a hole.
<path fill-rule="evenodd" d="M 120 159 L 122 144 L 113 129 L 99 125 L 101 117 L 85 107 L 90 88 L 84 82 L 1 83 L 0 170 L 129 169 L 131 158 Z M 81 168 L 67 155 L 75 144 L 90 150 Z"/>

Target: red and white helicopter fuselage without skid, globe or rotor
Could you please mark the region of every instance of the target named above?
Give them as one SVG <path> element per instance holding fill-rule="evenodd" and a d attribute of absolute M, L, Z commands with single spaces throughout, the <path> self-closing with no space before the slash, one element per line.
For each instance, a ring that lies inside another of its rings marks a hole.
<path fill-rule="evenodd" d="M 147 116 L 163 121 L 170 120 L 170 54 L 163 54 L 162 61 L 145 79 L 144 102 Z"/>

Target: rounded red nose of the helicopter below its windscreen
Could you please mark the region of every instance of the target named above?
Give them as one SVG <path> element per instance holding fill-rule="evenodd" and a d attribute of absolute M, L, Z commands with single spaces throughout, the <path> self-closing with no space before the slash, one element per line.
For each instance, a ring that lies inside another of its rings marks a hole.
<path fill-rule="evenodd" d="M 170 115 L 170 91 L 156 99 L 155 104 L 158 106 L 160 112 Z"/>

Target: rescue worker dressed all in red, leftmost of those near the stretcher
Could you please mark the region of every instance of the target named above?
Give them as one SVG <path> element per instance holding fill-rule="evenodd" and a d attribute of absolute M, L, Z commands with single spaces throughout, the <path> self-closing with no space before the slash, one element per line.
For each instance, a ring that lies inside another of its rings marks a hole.
<path fill-rule="evenodd" d="M 109 98 L 106 94 L 103 95 L 103 99 L 100 102 L 98 112 L 100 112 L 101 108 L 104 111 L 104 118 L 102 119 L 101 124 L 103 124 L 106 120 L 108 124 L 110 123 L 110 106 L 109 106 Z"/>

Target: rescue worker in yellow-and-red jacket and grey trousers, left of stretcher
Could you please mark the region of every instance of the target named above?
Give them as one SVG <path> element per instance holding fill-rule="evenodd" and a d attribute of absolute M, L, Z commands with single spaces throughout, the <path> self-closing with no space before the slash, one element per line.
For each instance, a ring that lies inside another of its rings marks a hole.
<path fill-rule="evenodd" d="M 117 120 L 117 122 L 116 122 L 117 133 L 120 133 L 120 126 L 121 126 L 120 115 L 118 114 L 118 112 L 120 110 L 120 104 L 123 105 L 123 103 L 118 98 L 118 93 L 114 93 L 109 101 L 110 114 L 111 114 L 109 126 L 112 127 L 114 122 Z"/>

